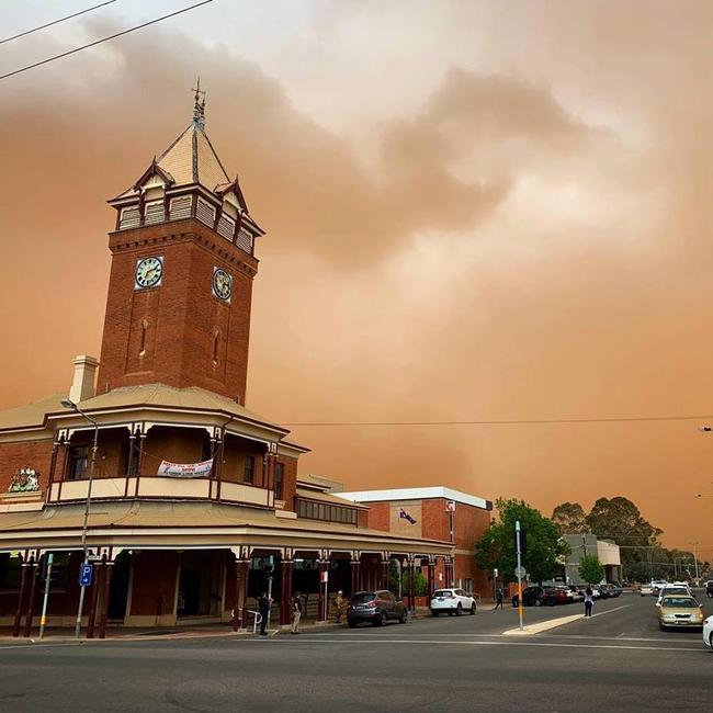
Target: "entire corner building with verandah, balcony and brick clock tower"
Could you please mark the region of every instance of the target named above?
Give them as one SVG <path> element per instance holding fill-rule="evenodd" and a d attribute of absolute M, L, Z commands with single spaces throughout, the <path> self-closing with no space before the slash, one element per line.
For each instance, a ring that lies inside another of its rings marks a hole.
<path fill-rule="evenodd" d="M 94 562 L 88 636 L 107 625 L 245 626 L 268 588 L 281 623 L 295 589 L 324 618 L 321 573 L 330 592 L 352 592 L 386 587 L 393 561 L 412 573 L 453 557 L 440 536 L 370 528 L 366 506 L 299 477 L 307 449 L 246 407 L 264 233 L 199 99 L 188 128 L 109 201 L 101 358 L 75 359 L 68 394 L 0 412 L 0 626 L 14 635 L 38 624 L 50 553 L 48 626 L 73 624 L 83 533 Z M 80 410 L 63 407 L 67 395 Z M 171 463 L 203 472 L 174 477 Z"/>

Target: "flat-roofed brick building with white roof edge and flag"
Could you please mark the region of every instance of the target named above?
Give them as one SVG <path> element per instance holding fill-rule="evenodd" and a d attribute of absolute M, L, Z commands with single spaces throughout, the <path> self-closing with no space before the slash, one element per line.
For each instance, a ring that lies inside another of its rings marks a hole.
<path fill-rule="evenodd" d="M 360 490 L 340 496 L 369 506 L 369 527 L 403 536 L 453 544 L 451 561 L 435 567 L 435 585 L 491 596 L 493 584 L 475 566 L 475 543 L 490 524 L 493 502 L 444 487 Z M 452 568 L 452 571 L 449 571 Z"/>

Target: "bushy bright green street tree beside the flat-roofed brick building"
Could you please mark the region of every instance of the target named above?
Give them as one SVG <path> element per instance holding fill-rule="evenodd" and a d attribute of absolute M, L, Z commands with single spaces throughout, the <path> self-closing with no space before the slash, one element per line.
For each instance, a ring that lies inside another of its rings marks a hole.
<path fill-rule="evenodd" d="M 557 528 L 539 510 L 522 500 L 498 499 L 498 519 L 483 533 L 475 544 L 475 561 L 486 571 L 497 568 L 506 581 L 516 579 L 517 555 L 514 548 L 514 523 L 520 521 L 527 531 L 528 546 L 522 565 L 536 581 L 550 579 L 562 568 L 562 557 L 569 552 Z"/>

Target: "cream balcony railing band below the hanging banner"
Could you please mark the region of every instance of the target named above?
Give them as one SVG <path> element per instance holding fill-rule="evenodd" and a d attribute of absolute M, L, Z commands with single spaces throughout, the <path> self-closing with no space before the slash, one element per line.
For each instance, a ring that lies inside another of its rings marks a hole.
<path fill-rule="evenodd" d="M 47 502 L 71 502 L 87 499 L 88 479 L 52 483 Z M 258 507 L 273 507 L 274 494 L 247 483 L 212 478 L 173 478 L 161 475 L 95 477 L 92 500 L 213 500 Z"/>

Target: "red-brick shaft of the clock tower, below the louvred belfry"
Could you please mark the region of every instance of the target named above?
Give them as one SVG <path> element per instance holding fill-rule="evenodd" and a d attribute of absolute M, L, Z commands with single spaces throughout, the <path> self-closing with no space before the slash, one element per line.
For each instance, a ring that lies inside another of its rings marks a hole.
<path fill-rule="evenodd" d="M 98 393 L 162 382 L 201 386 L 245 403 L 257 260 L 193 218 L 113 233 L 110 250 Z M 161 285 L 136 291 L 136 262 L 149 256 L 163 257 Z M 233 275 L 229 305 L 212 294 L 214 267 Z"/>

